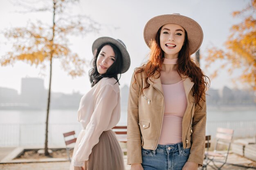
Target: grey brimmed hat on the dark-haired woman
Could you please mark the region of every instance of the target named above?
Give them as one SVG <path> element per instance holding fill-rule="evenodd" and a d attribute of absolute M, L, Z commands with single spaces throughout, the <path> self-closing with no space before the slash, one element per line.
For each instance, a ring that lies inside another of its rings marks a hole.
<path fill-rule="evenodd" d="M 128 69 L 130 67 L 130 63 L 131 63 L 130 55 L 129 55 L 128 51 L 126 50 L 126 46 L 125 46 L 124 42 L 122 42 L 121 40 L 119 40 L 119 39 L 116 40 L 116 39 L 110 38 L 110 37 L 100 37 L 93 42 L 92 53 L 94 53 L 94 51 L 97 50 L 101 45 L 106 44 L 106 43 L 114 44 L 115 46 L 117 46 L 117 48 L 120 50 L 121 55 L 123 57 L 121 73 L 125 73 L 126 71 L 128 71 Z"/>

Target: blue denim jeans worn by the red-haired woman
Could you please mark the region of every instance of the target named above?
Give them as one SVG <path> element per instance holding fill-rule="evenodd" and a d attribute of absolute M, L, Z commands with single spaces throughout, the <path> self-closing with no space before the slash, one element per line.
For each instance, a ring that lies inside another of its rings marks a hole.
<path fill-rule="evenodd" d="M 182 142 L 158 145 L 156 150 L 141 148 L 144 170 L 182 170 L 189 159 L 190 148 L 183 148 Z"/>

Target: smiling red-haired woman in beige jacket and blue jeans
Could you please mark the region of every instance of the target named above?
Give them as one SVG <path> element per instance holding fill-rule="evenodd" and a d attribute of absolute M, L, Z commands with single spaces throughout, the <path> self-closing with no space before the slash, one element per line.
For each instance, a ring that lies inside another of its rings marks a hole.
<path fill-rule="evenodd" d="M 128 100 L 131 170 L 197 170 L 204 160 L 208 77 L 193 62 L 200 25 L 183 15 L 160 15 L 144 28 L 150 47 L 136 68 Z"/>

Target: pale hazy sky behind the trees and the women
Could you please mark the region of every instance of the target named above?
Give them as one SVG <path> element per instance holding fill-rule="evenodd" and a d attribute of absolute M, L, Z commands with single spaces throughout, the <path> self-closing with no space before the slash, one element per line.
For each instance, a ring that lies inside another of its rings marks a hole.
<path fill-rule="evenodd" d="M 39 0 L 26 0 L 36 5 Z M 13 0 L 11 1 L 13 2 Z M 83 38 L 70 38 L 71 49 L 87 60 L 92 59 L 91 47 L 96 38 L 110 36 L 122 40 L 131 57 L 131 66 L 128 72 L 121 76 L 121 86 L 130 84 L 132 72 L 135 67 L 146 61 L 149 52 L 143 38 L 143 30 L 146 22 L 157 15 L 180 13 L 196 20 L 203 29 L 204 40 L 200 48 L 201 68 L 205 71 L 203 56 L 207 55 L 207 48 L 217 46 L 223 48 L 223 43 L 229 36 L 229 29 L 233 24 L 240 22 L 239 18 L 231 16 L 232 11 L 241 10 L 249 4 L 250 0 L 81 0 L 79 6 L 69 12 L 90 16 L 102 25 L 99 33 L 91 33 Z M 15 11 L 23 10 L 13 6 L 8 0 L 0 1 L 0 30 L 16 26 L 26 26 L 30 20 L 41 20 L 45 23 L 52 22 L 51 13 L 27 13 L 21 14 Z M 0 35 L 0 56 L 11 50 L 11 47 L 3 44 L 4 37 Z M 213 66 L 213 68 L 216 68 Z M 72 93 L 79 91 L 81 94 L 90 89 L 88 70 L 85 75 L 71 78 L 61 68 L 57 60 L 54 60 L 52 91 Z M 206 74 L 210 74 L 205 72 Z M 30 66 L 23 62 L 16 62 L 13 66 L 0 67 L 0 87 L 14 88 L 20 93 L 22 77 L 40 77 L 44 79 L 45 88 L 48 88 L 49 68 L 40 70 L 40 67 Z M 220 70 L 219 77 L 211 81 L 211 88 L 222 88 L 231 84 L 231 77 L 227 71 Z M 240 86 L 242 88 L 242 86 Z"/>

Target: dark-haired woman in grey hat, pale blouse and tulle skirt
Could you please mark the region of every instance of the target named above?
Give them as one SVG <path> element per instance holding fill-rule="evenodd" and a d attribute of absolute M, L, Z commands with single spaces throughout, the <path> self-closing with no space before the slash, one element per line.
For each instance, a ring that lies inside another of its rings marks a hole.
<path fill-rule="evenodd" d="M 121 148 L 111 130 L 120 119 L 118 75 L 128 70 L 130 56 L 121 40 L 101 37 L 92 45 L 92 88 L 80 102 L 83 130 L 74 147 L 70 170 L 124 170 Z"/>

